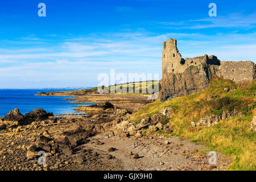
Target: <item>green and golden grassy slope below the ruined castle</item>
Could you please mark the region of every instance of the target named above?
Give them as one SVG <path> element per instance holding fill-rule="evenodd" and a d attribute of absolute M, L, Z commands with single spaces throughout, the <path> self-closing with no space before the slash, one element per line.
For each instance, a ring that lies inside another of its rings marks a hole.
<path fill-rule="evenodd" d="M 237 89 L 224 92 L 225 87 Z M 236 85 L 233 81 L 215 78 L 203 92 L 146 105 L 131 121 L 153 115 L 164 106 L 173 106 L 175 114 L 169 122 L 174 126 L 174 135 L 192 138 L 192 142 L 203 141 L 209 150 L 227 154 L 234 159 L 230 170 L 256 170 L 256 132 L 250 131 L 251 120 L 256 114 L 255 93 L 256 82 Z M 212 95 L 218 97 L 207 101 Z M 191 121 L 232 109 L 240 110 L 243 116 L 222 120 L 212 127 L 191 127 Z"/>

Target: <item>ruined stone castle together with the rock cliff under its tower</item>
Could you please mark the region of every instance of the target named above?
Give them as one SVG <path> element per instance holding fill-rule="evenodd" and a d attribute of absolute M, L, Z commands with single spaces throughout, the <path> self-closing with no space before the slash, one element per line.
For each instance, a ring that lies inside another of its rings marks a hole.
<path fill-rule="evenodd" d="M 235 82 L 255 80 L 252 61 L 220 61 L 216 56 L 183 59 L 177 49 L 177 40 L 163 42 L 161 101 L 200 92 L 208 87 L 212 76 Z"/>

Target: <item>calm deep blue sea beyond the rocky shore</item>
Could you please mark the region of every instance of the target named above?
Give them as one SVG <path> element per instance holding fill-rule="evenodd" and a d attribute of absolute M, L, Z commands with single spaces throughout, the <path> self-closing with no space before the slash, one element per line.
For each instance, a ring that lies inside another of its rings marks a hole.
<path fill-rule="evenodd" d="M 20 113 L 25 114 L 34 109 L 44 109 L 53 114 L 76 113 L 75 105 L 63 98 L 72 97 L 47 97 L 34 96 L 38 92 L 51 92 L 61 90 L 1 90 L 0 89 L 0 117 L 4 117 L 10 110 L 19 108 Z"/>

